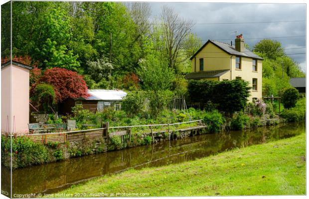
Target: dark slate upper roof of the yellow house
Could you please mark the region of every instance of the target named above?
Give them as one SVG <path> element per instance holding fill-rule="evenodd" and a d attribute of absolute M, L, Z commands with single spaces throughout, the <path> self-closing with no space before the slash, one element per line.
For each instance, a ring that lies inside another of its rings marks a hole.
<path fill-rule="evenodd" d="M 228 43 L 223 43 L 220 41 L 215 41 L 215 40 L 208 40 L 191 58 L 190 60 L 192 60 L 208 43 L 212 43 L 215 46 L 217 46 L 218 48 L 220 48 L 221 50 L 223 50 L 224 52 L 230 54 L 230 55 L 237 55 L 237 56 L 243 56 L 243 57 L 250 57 L 250 58 L 254 58 L 254 59 L 260 59 L 260 60 L 264 60 L 262 57 L 254 54 L 252 51 L 246 49 L 246 51 L 244 52 L 239 52 L 238 50 L 236 50 L 235 45 L 230 45 Z"/>

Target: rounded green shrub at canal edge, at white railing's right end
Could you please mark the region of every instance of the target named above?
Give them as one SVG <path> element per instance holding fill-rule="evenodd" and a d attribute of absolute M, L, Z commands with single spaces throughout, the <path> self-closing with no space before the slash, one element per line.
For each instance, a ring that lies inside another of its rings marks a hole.
<path fill-rule="evenodd" d="M 225 118 L 218 110 L 214 110 L 205 114 L 203 122 L 207 125 L 210 132 L 219 132 L 225 122 Z"/>

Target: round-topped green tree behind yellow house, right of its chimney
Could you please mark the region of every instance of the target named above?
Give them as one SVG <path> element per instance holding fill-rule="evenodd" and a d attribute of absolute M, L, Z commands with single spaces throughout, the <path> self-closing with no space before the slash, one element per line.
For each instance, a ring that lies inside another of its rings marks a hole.
<path fill-rule="evenodd" d="M 281 47 L 281 43 L 276 40 L 263 39 L 253 47 L 254 52 L 262 53 L 269 59 L 276 60 L 278 57 L 285 56 L 285 52 Z"/>

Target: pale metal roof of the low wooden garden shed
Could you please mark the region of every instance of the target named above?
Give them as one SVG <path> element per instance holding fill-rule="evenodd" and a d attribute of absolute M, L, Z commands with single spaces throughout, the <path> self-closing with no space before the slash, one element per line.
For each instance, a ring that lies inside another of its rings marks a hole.
<path fill-rule="evenodd" d="M 84 100 L 110 100 L 120 101 L 127 96 L 127 93 L 121 90 L 88 90 L 90 95 Z"/>

